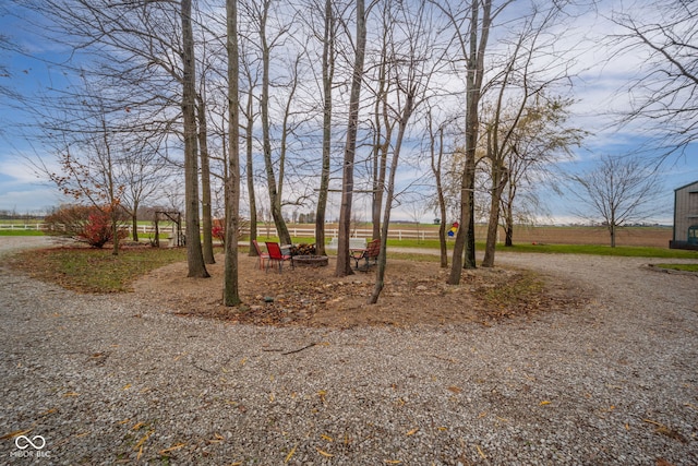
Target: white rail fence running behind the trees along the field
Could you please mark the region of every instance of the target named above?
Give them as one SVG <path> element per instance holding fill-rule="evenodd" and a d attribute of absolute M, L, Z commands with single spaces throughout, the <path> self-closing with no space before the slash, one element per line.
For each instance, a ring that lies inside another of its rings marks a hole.
<path fill-rule="evenodd" d="M 124 229 L 128 229 L 131 232 L 131 226 L 124 226 Z M 47 227 L 45 224 L 0 224 L 0 230 L 46 230 Z M 169 234 L 171 231 L 171 225 L 160 226 L 160 234 Z M 315 229 L 314 228 L 294 228 L 290 226 L 288 228 L 289 234 L 294 238 L 315 238 Z M 153 225 L 139 225 L 140 234 L 154 234 L 155 227 Z M 243 235 L 250 234 L 249 229 L 242 231 Z M 326 238 L 337 238 L 339 235 L 339 230 L 337 228 L 326 228 L 325 237 Z M 276 228 L 273 226 L 261 225 L 257 226 L 257 237 L 276 237 Z M 369 228 L 352 228 L 351 229 L 352 238 L 366 238 L 371 239 L 373 237 L 373 230 Z M 389 239 L 438 239 L 438 231 L 432 228 L 424 229 L 390 229 L 388 230 Z"/>

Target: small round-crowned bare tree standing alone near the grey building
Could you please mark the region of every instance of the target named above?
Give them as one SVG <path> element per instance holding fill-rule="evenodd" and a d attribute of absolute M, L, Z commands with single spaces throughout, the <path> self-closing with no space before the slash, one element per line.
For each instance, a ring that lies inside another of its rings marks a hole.
<path fill-rule="evenodd" d="M 660 179 L 653 168 L 638 157 L 604 155 L 599 164 L 580 175 L 570 175 L 573 193 L 587 207 L 579 215 L 601 220 L 615 248 L 619 227 L 647 219 L 661 194 Z"/>

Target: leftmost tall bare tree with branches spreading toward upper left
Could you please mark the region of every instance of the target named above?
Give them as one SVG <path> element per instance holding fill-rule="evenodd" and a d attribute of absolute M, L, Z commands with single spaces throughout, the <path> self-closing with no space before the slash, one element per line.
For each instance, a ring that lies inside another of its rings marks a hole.
<path fill-rule="evenodd" d="M 192 2 L 41 0 L 32 7 L 58 25 L 53 39 L 98 61 L 91 71 L 124 91 L 124 107 L 152 113 L 149 131 L 172 132 L 181 118 L 184 145 L 188 276 L 205 277 L 200 237 L 198 144 Z M 181 92 L 172 89 L 180 88 Z M 172 108 L 181 113 L 172 116 Z"/>

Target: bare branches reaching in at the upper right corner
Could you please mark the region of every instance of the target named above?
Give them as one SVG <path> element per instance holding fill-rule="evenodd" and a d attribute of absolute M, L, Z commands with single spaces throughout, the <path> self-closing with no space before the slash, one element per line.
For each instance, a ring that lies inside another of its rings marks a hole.
<path fill-rule="evenodd" d="M 611 20 L 625 31 L 611 37 L 617 49 L 612 60 L 645 53 L 637 77 L 628 83 L 631 108 L 622 124 L 641 123 L 643 132 L 661 141 L 663 155 L 684 152 L 698 141 L 698 3 L 634 3 L 614 11 Z"/>

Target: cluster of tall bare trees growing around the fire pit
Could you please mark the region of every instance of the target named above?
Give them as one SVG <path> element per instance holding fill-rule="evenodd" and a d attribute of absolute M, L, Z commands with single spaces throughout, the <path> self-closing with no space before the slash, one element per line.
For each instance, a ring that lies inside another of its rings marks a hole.
<path fill-rule="evenodd" d="M 75 53 L 64 67 L 79 79 L 33 105 L 60 166 L 45 171 L 65 193 L 119 205 L 134 222 L 145 199 L 181 192 L 183 172 L 192 277 L 214 261 L 213 217 L 225 212 L 231 235 L 242 200 L 251 241 L 261 203 L 286 243 L 284 208 L 314 206 L 322 254 L 333 191 L 341 193 L 336 274 L 350 274 L 353 195 L 369 193 L 382 240 L 375 302 L 392 208 L 429 184 L 444 267 L 446 219 L 460 224 L 448 278 L 458 284 L 476 266 L 478 212 L 492 266 L 498 225 L 510 244 L 535 187 L 583 136 L 569 126 L 566 97 L 573 0 L 15 2 L 50 20 L 47 39 Z M 400 170 L 424 163 L 431 170 L 414 184 L 399 182 Z M 237 240 L 225 244 L 224 296 L 234 306 Z"/>

